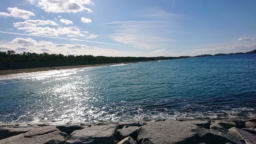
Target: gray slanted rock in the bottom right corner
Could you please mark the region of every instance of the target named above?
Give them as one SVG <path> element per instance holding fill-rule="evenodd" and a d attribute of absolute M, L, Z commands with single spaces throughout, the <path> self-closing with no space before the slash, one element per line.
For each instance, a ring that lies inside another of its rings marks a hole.
<path fill-rule="evenodd" d="M 256 135 L 246 132 L 245 130 L 233 127 L 229 129 L 228 134 L 242 142 L 245 142 L 246 144 L 256 144 Z"/>

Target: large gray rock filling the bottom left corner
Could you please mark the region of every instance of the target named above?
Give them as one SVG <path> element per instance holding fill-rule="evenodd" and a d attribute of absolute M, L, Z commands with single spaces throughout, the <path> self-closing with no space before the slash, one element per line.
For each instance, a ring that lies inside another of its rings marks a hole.
<path fill-rule="evenodd" d="M 68 138 L 68 134 L 61 132 L 56 127 L 46 126 L 5 138 L 0 140 L 0 144 L 64 144 Z"/>

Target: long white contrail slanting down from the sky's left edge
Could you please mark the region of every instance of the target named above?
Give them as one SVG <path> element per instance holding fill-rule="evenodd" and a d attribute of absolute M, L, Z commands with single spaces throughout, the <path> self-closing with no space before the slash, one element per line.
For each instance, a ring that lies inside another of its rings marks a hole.
<path fill-rule="evenodd" d="M 33 34 L 20 34 L 20 33 L 2 32 L 2 31 L 0 31 L 0 33 L 4 33 L 4 34 L 18 34 L 18 35 L 24 35 L 24 36 L 38 36 L 38 35 L 33 35 Z M 57 37 L 53 37 L 53 36 L 39 36 L 39 37 L 57 38 Z M 78 40 L 78 39 L 76 39 L 76 38 L 57 38 L 57 39 L 62 39 L 62 40 L 76 40 L 76 41 L 82 41 L 82 42 L 94 42 L 94 41 L 90 41 L 90 40 Z M 94 43 L 98 43 L 98 44 L 110 44 L 110 43 L 105 43 L 105 42 L 94 42 Z M 125 46 L 125 45 L 121 45 L 121 44 L 111 44 L 111 45 Z"/>

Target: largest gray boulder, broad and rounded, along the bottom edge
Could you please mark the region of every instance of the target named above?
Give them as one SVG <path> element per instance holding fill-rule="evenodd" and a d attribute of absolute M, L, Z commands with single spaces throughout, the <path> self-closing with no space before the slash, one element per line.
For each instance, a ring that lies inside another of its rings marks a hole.
<path fill-rule="evenodd" d="M 194 144 L 206 142 L 206 132 L 195 126 L 178 120 L 152 122 L 138 129 L 137 142 L 139 144 Z"/>

